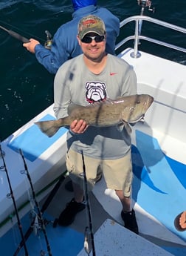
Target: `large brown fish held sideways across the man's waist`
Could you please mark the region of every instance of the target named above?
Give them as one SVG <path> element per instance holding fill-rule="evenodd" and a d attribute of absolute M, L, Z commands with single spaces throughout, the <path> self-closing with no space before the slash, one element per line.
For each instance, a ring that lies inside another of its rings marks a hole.
<path fill-rule="evenodd" d="M 87 125 L 108 127 L 118 125 L 119 130 L 128 124 L 134 124 L 144 118 L 146 111 L 154 101 L 148 94 L 135 94 L 117 99 L 106 99 L 92 105 L 81 106 L 74 103 L 68 107 L 68 116 L 49 121 L 35 122 L 35 125 L 48 137 L 52 137 L 72 121 L 83 119 Z"/>

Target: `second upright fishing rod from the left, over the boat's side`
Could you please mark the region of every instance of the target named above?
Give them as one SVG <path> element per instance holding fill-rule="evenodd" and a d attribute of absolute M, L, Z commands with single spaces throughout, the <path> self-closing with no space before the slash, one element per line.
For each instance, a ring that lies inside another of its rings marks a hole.
<path fill-rule="evenodd" d="M 29 180 L 31 191 L 32 191 L 32 197 L 33 197 L 33 200 L 35 202 L 35 206 L 36 206 L 36 208 L 38 210 L 38 220 L 41 223 L 41 229 L 42 229 L 42 232 L 44 233 L 44 238 L 45 238 L 45 241 L 47 243 L 47 252 L 48 252 L 49 256 L 52 256 L 52 252 L 51 252 L 51 249 L 50 249 L 50 246 L 49 246 L 49 240 L 48 240 L 47 232 L 46 232 L 46 228 L 45 228 L 44 219 L 43 219 L 43 216 L 42 216 L 42 213 L 41 213 L 41 209 L 40 209 L 40 207 L 38 205 L 38 200 L 37 200 L 36 195 L 35 195 L 35 191 L 34 191 L 34 188 L 33 188 L 32 180 L 31 180 L 31 177 L 30 177 L 30 173 L 29 173 L 28 168 L 27 168 L 27 163 L 26 163 L 26 161 L 24 159 L 24 154 L 22 153 L 21 149 L 19 149 L 19 152 L 20 152 L 22 160 L 24 162 L 24 169 L 25 169 L 25 171 L 21 171 L 21 173 L 22 174 L 24 174 L 24 173 L 27 174 L 27 178 Z"/>

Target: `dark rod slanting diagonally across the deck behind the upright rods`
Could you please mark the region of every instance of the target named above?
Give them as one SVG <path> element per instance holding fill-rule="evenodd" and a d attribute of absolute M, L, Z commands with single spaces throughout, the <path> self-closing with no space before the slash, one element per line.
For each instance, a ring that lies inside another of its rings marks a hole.
<path fill-rule="evenodd" d="M 44 201 L 44 205 L 41 207 L 41 214 L 44 214 L 44 211 L 46 211 L 46 209 L 48 208 L 49 203 L 51 203 L 52 199 L 54 198 L 61 184 L 63 183 L 63 180 L 65 180 L 65 176 L 61 175 L 60 179 L 58 180 L 58 183 L 55 184 L 54 188 L 52 188 L 52 191 L 49 193 L 49 196 Z M 32 220 L 30 227 L 27 229 L 27 232 L 24 234 L 24 240 L 27 241 L 27 239 L 30 237 L 30 234 L 32 234 L 34 224 L 35 224 L 35 219 Z M 19 243 L 18 248 L 14 252 L 13 256 L 18 255 L 18 252 L 21 250 L 22 247 L 23 247 L 23 240 L 21 240 L 21 242 Z"/>

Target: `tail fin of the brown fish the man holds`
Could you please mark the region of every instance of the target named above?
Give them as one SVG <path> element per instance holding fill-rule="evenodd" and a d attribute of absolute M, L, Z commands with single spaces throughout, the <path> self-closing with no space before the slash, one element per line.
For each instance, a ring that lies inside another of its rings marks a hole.
<path fill-rule="evenodd" d="M 35 122 L 35 125 L 38 125 L 40 130 L 46 134 L 48 137 L 52 137 L 56 132 L 59 130 L 58 127 L 56 127 L 54 120 L 50 121 L 40 121 L 40 122 Z"/>

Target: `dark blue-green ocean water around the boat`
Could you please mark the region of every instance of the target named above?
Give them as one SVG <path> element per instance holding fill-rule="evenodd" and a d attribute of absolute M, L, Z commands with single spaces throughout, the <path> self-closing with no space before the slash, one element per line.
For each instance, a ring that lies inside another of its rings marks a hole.
<path fill-rule="evenodd" d="M 97 0 L 97 3 L 111 10 L 120 21 L 140 14 L 137 0 Z M 155 12 L 145 10 L 145 15 L 186 27 L 185 0 L 152 0 L 152 6 Z M 44 44 L 44 31 L 49 30 L 53 35 L 61 24 L 71 19 L 72 11 L 70 0 L 1 0 L 0 25 Z M 156 36 L 156 27 L 149 25 L 147 29 L 149 35 Z M 162 30 L 160 36 L 185 47 L 186 38 L 182 35 Z M 185 53 L 145 43 L 140 47 L 186 65 Z M 38 64 L 35 55 L 27 52 L 21 42 L 0 30 L 0 140 L 52 104 L 53 79 L 54 76 Z"/>

